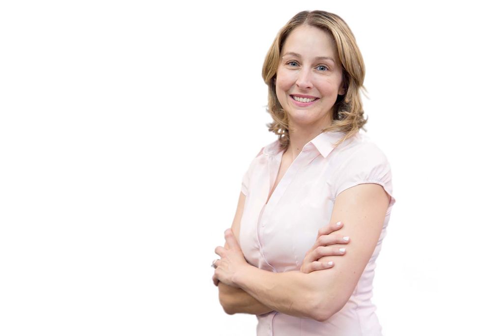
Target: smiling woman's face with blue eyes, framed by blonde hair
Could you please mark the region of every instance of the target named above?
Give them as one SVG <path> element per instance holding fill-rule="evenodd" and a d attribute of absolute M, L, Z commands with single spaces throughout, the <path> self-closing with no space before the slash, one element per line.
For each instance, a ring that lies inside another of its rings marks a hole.
<path fill-rule="evenodd" d="M 343 72 L 333 38 L 302 25 L 287 37 L 276 73 L 276 96 L 288 114 L 289 128 L 331 124 L 337 95 L 344 94 Z"/>

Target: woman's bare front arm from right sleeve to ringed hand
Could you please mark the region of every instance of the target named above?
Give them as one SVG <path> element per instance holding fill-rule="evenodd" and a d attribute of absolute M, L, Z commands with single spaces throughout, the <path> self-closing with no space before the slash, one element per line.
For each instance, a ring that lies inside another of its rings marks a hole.
<path fill-rule="evenodd" d="M 388 195 L 376 184 L 358 185 L 337 197 L 330 222 L 346 223 L 342 231 L 351 236 L 352 248 L 345 258 L 337 260 L 336 267 L 326 272 L 272 273 L 242 261 L 239 264 L 238 254 L 234 252 L 229 252 L 231 259 L 227 259 L 227 252 L 224 252 L 222 260 L 225 257 L 225 263 L 230 267 L 237 265 L 237 268 L 226 271 L 227 266 L 221 263 L 217 275 L 221 281 L 225 279 L 229 284 L 243 288 L 273 310 L 324 321 L 342 309 L 355 289 L 377 244 L 388 204 Z M 226 239 L 234 242 L 230 235 L 227 232 Z M 320 260 L 335 261 L 336 258 L 323 257 Z"/>

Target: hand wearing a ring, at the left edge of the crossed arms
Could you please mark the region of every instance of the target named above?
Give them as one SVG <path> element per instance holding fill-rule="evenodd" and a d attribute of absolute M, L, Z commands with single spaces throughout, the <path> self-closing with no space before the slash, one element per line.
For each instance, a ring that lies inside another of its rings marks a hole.
<path fill-rule="evenodd" d="M 225 241 L 229 248 L 217 246 L 215 253 L 220 256 L 220 259 L 215 262 L 215 274 L 213 275 L 213 284 L 218 285 L 218 281 L 232 287 L 238 287 L 234 283 L 236 273 L 243 268 L 248 267 L 248 263 L 244 259 L 239 243 L 237 242 L 231 229 L 225 230 Z"/>

